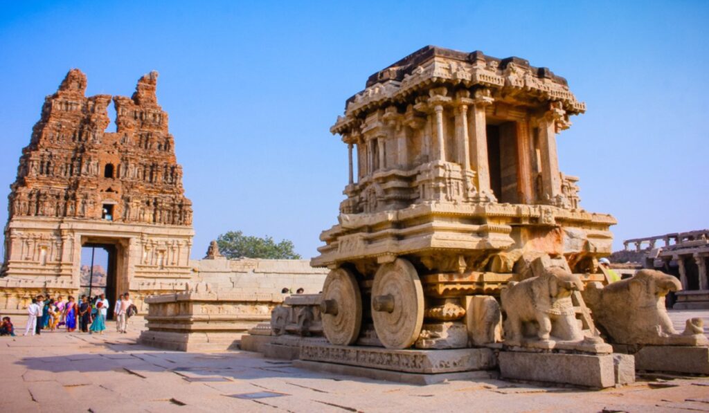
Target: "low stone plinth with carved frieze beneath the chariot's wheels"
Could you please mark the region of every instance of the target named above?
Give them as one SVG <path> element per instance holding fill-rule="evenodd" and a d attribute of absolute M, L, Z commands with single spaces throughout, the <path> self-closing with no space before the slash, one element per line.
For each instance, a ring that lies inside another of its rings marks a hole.
<path fill-rule="evenodd" d="M 392 350 L 303 343 L 299 358 L 295 366 L 420 385 L 497 375 L 492 349 Z"/>

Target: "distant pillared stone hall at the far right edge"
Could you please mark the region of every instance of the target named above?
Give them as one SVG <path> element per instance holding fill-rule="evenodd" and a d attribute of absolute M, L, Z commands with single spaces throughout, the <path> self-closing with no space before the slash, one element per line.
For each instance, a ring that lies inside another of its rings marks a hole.
<path fill-rule="evenodd" d="M 675 293 L 673 308 L 709 308 L 709 230 L 626 239 L 623 246 L 626 250 L 634 246 L 635 251 L 644 251 L 645 268 L 659 269 L 679 278 L 682 290 Z"/>

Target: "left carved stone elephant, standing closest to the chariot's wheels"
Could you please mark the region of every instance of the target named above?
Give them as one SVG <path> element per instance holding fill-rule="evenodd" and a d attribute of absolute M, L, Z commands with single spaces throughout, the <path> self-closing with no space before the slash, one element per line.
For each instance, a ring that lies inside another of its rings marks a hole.
<path fill-rule="evenodd" d="M 581 341 L 584 335 L 576 322 L 571 294 L 584 290 L 581 279 L 563 268 L 547 268 L 540 276 L 527 278 L 501 291 L 502 309 L 506 313 L 505 342 L 519 345 L 526 332 L 536 327 L 542 341 Z"/>

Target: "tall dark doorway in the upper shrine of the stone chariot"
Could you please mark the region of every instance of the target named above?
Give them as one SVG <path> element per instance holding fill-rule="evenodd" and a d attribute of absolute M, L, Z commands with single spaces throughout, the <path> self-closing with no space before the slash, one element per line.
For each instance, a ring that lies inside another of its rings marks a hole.
<path fill-rule="evenodd" d="M 487 126 L 490 187 L 500 203 L 519 203 L 515 123 Z"/>

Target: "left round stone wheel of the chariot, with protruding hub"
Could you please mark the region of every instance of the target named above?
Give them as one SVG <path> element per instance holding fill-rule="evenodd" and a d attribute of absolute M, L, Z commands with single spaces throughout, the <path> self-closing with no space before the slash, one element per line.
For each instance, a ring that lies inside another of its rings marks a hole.
<path fill-rule="evenodd" d="M 330 271 L 320 302 L 323 333 L 331 344 L 349 346 L 362 327 L 362 295 L 357 278 L 345 268 Z"/>

